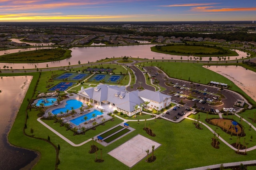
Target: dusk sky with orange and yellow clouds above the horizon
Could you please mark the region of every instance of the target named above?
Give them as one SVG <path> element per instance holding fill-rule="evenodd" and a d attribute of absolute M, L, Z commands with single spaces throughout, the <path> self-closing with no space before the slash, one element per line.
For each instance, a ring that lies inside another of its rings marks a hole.
<path fill-rule="evenodd" d="M 206 20 L 256 20 L 256 0 L 0 0 L 0 22 Z"/>

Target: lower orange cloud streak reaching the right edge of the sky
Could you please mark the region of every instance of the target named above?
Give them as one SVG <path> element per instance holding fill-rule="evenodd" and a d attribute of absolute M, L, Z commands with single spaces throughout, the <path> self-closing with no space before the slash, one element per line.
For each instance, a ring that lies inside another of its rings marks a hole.
<path fill-rule="evenodd" d="M 215 8 L 215 9 L 212 9 Z M 213 6 L 203 6 L 203 7 L 192 7 L 191 11 L 197 12 L 230 12 L 230 11 L 255 11 L 256 7 L 251 8 L 216 8 Z"/>

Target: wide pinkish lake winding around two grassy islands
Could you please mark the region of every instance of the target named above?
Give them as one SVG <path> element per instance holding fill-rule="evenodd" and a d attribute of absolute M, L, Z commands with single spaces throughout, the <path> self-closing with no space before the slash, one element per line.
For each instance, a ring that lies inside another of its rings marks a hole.
<path fill-rule="evenodd" d="M 125 46 L 101 46 L 101 47 L 73 47 L 72 50 L 72 57 L 68 59 L 64 59 L 61 61 L 52 61 L 52 62 L 45 62 L 45 63 L 0 63 L 1 69 L 4 67 L 4 65 L 12 67 L 12 69 L 33 69 L 35 68 L 35 65 L 37 68 L 46 68 L 46 65 L 48 67 L 64 67 L 69 65 L 68 62 L 70 62 L 71 65 L 77 65 L 78 61 L 80 61 L 81 64 L 86 64 L 88 62 L 95 62 L 101 59 L 105 58 L 112 58 L 112 57 L 123 57 L 128 56 L 132 58 L 142 58 L 142 59 L 166 59 L 166 60 L 180 60 L 182 57 L 182 60 L 189 60 L 191 62 L 196 62 L 196 60 L 199 60 L 198 57 L 193 56 L 182 56 L 182 55 L 169 55 L 164 53 L 156 53 L 151 51 L 150 47 L 155 46 L 155 44 L 146 44 L 146 45 L 125 45 Z M 49 48 L 49 47 L 46 47 Z M 30 48 L 30 50 L 35 50 L 35 48 Z M 43 47 L 41 47 L 43 49 Z M 4 55 L 4 52 L 13 52 L 11 50 L 5 50 L 0 51 L 0 55 Z M 14 49 L 18 52 L 19 49 Z M 21 49 L 24 50 L 24 49 Z M 27 50 L 27 49 L 26 49 Z M 29 49 L 28 49 L 29 50 Z M 238 51 L 238 50 L 236 50 Z M 241 59 L 242 57 L 246 57 L 247 53 L 243 51 L 239 51 L 239 56 L 232 56 L 230 57 L 230 60 L 234 59 Z M 218 61 L 218 57 L 212 57 L 212 61 Z M 209 61 L 209 57 L 203 57 L 202 61 Z M 226 57 L 226 61 L 228 61 L 228 57 Z"/>

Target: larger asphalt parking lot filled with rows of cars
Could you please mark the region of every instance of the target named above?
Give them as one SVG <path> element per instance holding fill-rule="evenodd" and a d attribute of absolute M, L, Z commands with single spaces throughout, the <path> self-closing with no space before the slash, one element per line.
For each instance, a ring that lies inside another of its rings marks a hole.
<path fill-rule="evenodd" d="M 219 87 L 202 85 L 174 78 L 166 79 L 165 73 L 158 73 L 159 69 L 157 67 L 146 67 L 145 70 L 150 70 L 150 75 L 154 75 L 154 77 L 158 79 L 159 85 L 166 88 L 162 93 L 168 94 L 172 91 L 171 95 L 173 103 L 178 103 L 182 100 L 186 107 L 193 107 L 196 105 L 198 109 L 204 107 L 205 111 L 210 111 L 212 108 L 214 111 L 216 109 L 221 111 L 222 108 L 230 107 L 236 110 L 239 109 L 234 107 L 234 103 L 237 99 L 242 99 L 242 97 L 233 91 L 227 89 L 220 91 Z M 156 73 L 158 73 L 158 75 L 156 75 Z M 220 95 L 224 96 L 220 99 L 222 104 L 217 106 L 210 105 L 212 102 L 218 102 Z"/>

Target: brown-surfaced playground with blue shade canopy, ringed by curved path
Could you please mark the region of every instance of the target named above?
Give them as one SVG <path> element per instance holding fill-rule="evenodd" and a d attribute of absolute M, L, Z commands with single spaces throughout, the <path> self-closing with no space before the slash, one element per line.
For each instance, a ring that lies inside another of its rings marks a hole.
<path fill-rule="evenodd" d="M 224 128 L 226 132 L 230 132 L 232 134 L 241 134 L 242 132 L 240 125 L 236 121 L 232 121 L 230 119 L 211 119 L 210 123 Z"/>

